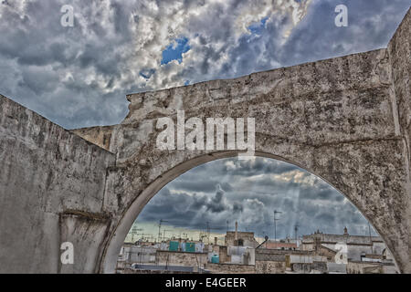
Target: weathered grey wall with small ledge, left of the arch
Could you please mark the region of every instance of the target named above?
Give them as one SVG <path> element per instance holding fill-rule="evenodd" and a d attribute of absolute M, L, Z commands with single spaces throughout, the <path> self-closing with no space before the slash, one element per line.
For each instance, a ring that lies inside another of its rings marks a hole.
<path fill-rule="evenodd" d="M 0 96 L 0 273 L 94 272 L 115 155 Z M 75 245 L 59 266 L 60 243 Z"/>

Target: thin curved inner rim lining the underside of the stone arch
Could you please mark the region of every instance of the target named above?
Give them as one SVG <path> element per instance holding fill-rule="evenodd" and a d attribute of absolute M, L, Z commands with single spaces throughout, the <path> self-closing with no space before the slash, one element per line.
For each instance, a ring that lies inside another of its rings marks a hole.
<path fill-rule="evenodd" d="M 216 151 L 216 152 L 198 155 L 195 158 L 192 158 L 191 160 L 187 160 L 182 163 L 179 163 L 173 168 L 167 170 L 166 172 L 163 172 L 163 174 L 160 175 L 158 178 L 156 178 L 153 181 L 153 183 L 150 183 L 147 186 L 147 188 L 145 188 L 142 191 L 142 193 L 135 195 L 129 208 L 124 212 L 124 214 L 122 215 L 119 221 L 119 224 L 115 227 L 115 230 L 113 231 L 111 235 L 108 245 L 106 245 L 106 248 L 102 255 L 102 260 L 100 262 L 100 273 L 113 273 L 114 272 L 117 258 L 118 258 L 118 255 L 121 249 L 121 245 L 123 244 L 126 235 L 131 229 L 133 222 L 138 217 L 138 215 L 142 212 L 142 209 L 145 207 L 145 205 L 150 202 L 153 196 L 156 193 L 158 193 L 163 188 L 163 186 L 165 186 L 167 183 L 172 182 L 175 178 L 182 175 L 184 172 L 190 171 L 196 166 L 199 166 L 206 162 L 213 162 L 219 159 L 236 157 L 237 154 L 238 154 L 237 151 Z M 307 172 L 311 172 L 311 174 L 314 174 L 315 176 L 321 178 L 324 182 L 330 184 L 339 193 L 341 193 L 345 198 L 347 198 L 351 203 L 353 203 L 355 207 L 358 208 L 359 212 L 364 215 L 364 217 L 366 218 L 366 220 L 370 222 L 370 224 L 373 225 L 375 231 L 377 231 L 377 233 L 385 241 L 385 245 L 387 245 L 387 240 L 386 240 L 387 235 L 384 233 L 384 230 L 381 229 L 382 226 L 378 225 L 377 222 L 375 222 L 375 224 L 377 224 L 375 225 L 373 222 L 373 218 L 371 218 L 370 220 L 367 217 L 367 212 L 364 212 L 364 206 L 358 205 L 358 203 L 355 203 L 354 202 L 355 200 L 353 200 L 354 198 L 353 195 L 350 195 L 350 193 L 343 193 L 341 191 L 341 189 L 338 187 L 340 183 L 330 182 L 327 178 L 323 177 L 321 174 L 315 171 L 312 171 L 310 169 L 307 169 L 306 166 L 304 166 L 305 163 L 302 163 L 302 162 L 293 162 L 279 155 L 275 155 L 273 153 L 268 153 L 268 152 L 261 152 L 261 151 L 257 151 L 256 156 L 275 159 L 275 160 L 288 162 L 290 164 L 296 165 L 300 167 L 301 169 L 304 169 Z M 387 246 L 388 246 L 387 248 L 391 251 L 389 244 Z M 395 255 L 395 253 L 393 252 L 392 254 Z M 395 266 L 397 266 L 396 258 L 395 258 Z"/>

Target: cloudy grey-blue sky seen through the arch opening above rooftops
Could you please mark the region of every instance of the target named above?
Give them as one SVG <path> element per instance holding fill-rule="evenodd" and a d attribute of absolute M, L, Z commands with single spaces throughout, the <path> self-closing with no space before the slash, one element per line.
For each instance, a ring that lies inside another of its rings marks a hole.
<path fill-rule="evenodd" d="M 205 232 L 207 222 L 211 232 L 225 233 L 227 221 L 229 230 L 237 221 L 242 231 L 274 238 L 274 210 L 282 212 L 277 238 L 294 237 L 296 224 L 299 235 L 317 229 L 342 234 L 344 226 L 353 235 L 369 234 L 364 216 L 328 183 L 292 164 L 259 157 L 208 162 L 185 172 L 153 197 L 136 225 L 157 235 L 163 219 L 171 236 L 189 229 Z"/>

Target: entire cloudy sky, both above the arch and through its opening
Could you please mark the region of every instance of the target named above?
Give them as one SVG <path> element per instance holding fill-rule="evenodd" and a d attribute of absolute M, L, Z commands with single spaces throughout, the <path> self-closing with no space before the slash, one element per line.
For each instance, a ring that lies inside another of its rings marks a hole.
<path fill-rule="evenodd" d="M 348 7 L 348 26 L 334 25 Z M 71 5 L 73 26 L 61 26 Z M 0 0 L 0 93 L 67 128 L 110 125 L 125 94 L 235 78 L 386 47 L 410 0 Z M 172 206 L 172 207 L 170 207 Z M 169 183 L 141 223 L 364 234 L 355 208 L 292 165 L 256 159 L 202 165 Z M 232 228 L 230 228 L 232 229 Z"/>

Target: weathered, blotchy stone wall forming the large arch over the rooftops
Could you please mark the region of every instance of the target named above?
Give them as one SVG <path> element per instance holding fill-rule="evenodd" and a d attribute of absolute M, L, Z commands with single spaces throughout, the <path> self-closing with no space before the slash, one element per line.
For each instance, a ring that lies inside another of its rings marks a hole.
<path fill-rule="evenodd" d="M 345 194 L 385 239 L 399 270 L 411 272 L 410 127 L 402 95 L 408 75 L 393 66 L 401 57 L 400 64 L 409 63 L 401 51 L 404 42 L 396 44 L 407 37 L 409 19 L 408 13 L 387 49 L 128 95 L 126 119 L 103 130 L 111 137 L 107 149 L 117 153 L 104 204 L 115 218 L 111 235 L 138 194 L 174 167 L 225 155 L 159 151 L 157 119 L 176 120 L 178 110 L 185 111 L 185 120 L 250 117 L 255 118 L 256 152 L 298 165 Z M 87 139 L 87 132 L 80 134 Z"/>

